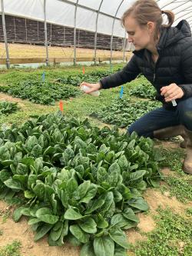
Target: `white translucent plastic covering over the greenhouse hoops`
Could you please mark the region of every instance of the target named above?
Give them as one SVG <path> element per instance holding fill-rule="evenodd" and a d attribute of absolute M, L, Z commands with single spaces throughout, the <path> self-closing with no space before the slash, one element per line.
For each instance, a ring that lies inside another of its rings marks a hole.
<path fill-rule="evenodd" d="M 124 38 L 121 16 L 134 0 L 3 0 L 5 15 L 44 20 L 46 2 L 47 22 L 85 29 Z M 174 25 L 186 19 L 192 25 L 192 1 L 157 0 L 162 10 L 172 10 Z M 1 5 L 0 5 L 0 11 Z M 76 15 L 75 15 L 76 14 Z M 98 17 L 98 18 L 97 18 Z M 98 20 L 98 22 L 97 22 Z M 166 20 L 164 21 L 166 22 Z M 97 23 L 97 24 L 96 24 Z"/>

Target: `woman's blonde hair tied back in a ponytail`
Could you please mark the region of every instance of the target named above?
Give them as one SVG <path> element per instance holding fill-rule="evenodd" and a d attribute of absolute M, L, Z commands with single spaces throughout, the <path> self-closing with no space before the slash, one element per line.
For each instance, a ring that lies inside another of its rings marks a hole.
<path fill-rule="evenodd" d="M 163 23 L 162 15 L 167 15 L 168 24 Z M 154 40 L 157 40 L 158 33 L 161 31 L 161 27 L 169 28 L 174 23 L 174 12 L 169 10 L 161 11 L 161 8 L 154 0 L 137 0 L 128 8 L 121 18 L 121 25 L 124 27 L 125 18 L 132 16 L 136 19 L 138 25 L 147 25 L 147 22 L 155 23 Z"/>

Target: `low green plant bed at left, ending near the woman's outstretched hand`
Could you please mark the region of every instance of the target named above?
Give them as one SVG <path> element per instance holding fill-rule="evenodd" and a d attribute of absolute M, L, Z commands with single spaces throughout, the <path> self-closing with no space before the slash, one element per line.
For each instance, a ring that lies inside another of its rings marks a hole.
<path fill-rule="evenodd" d="M 68 85 L 48 81 L 22 81 L 12 85 L 0 86 L 0 91 L 17 98 L 43 105 L 55 105 L 59 99 L 67 99 L 81 94 L 81 91 Z"/>

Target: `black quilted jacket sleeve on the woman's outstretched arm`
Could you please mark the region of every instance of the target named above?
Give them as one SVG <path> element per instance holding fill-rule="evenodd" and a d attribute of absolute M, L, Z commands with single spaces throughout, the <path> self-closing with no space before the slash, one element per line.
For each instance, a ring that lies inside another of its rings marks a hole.
<path fill-rule="evenodd" d="M 127 65 L 121 70 L 113 75 L 109 75 L 100 80 L 103 89 L 117 87 L 123 85 L 128 81 L 134 80 L 137 75 L 141 72 L 137 66 L 137 57 L 134 55 Z"/>

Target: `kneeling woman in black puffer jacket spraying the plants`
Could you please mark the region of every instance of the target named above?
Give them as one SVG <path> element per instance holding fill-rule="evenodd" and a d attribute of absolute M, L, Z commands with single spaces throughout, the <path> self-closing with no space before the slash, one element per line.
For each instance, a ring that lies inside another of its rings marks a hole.
<path fill-rule="evenodd" d="M 162 15 L 168 25 L 162 25 Z M 83 82 L 90 90 L 107 89 L 133 80 L 142 73 L 157 90 L 163 107 L 134 122 L 128 132 L 151 138 L 181 135 L 187 148 L 184 171 L 192 174 L 192 38 L 190 26 L 183 20 L 176 27 L 174 13 L 161 11 L 153 0 L 138 0 L 121 19 L 128 41 L 135 47 L 130 62 L 117 73 L 97 84 Z M 173 101 L 177 106 L 173 105 Z"/>

